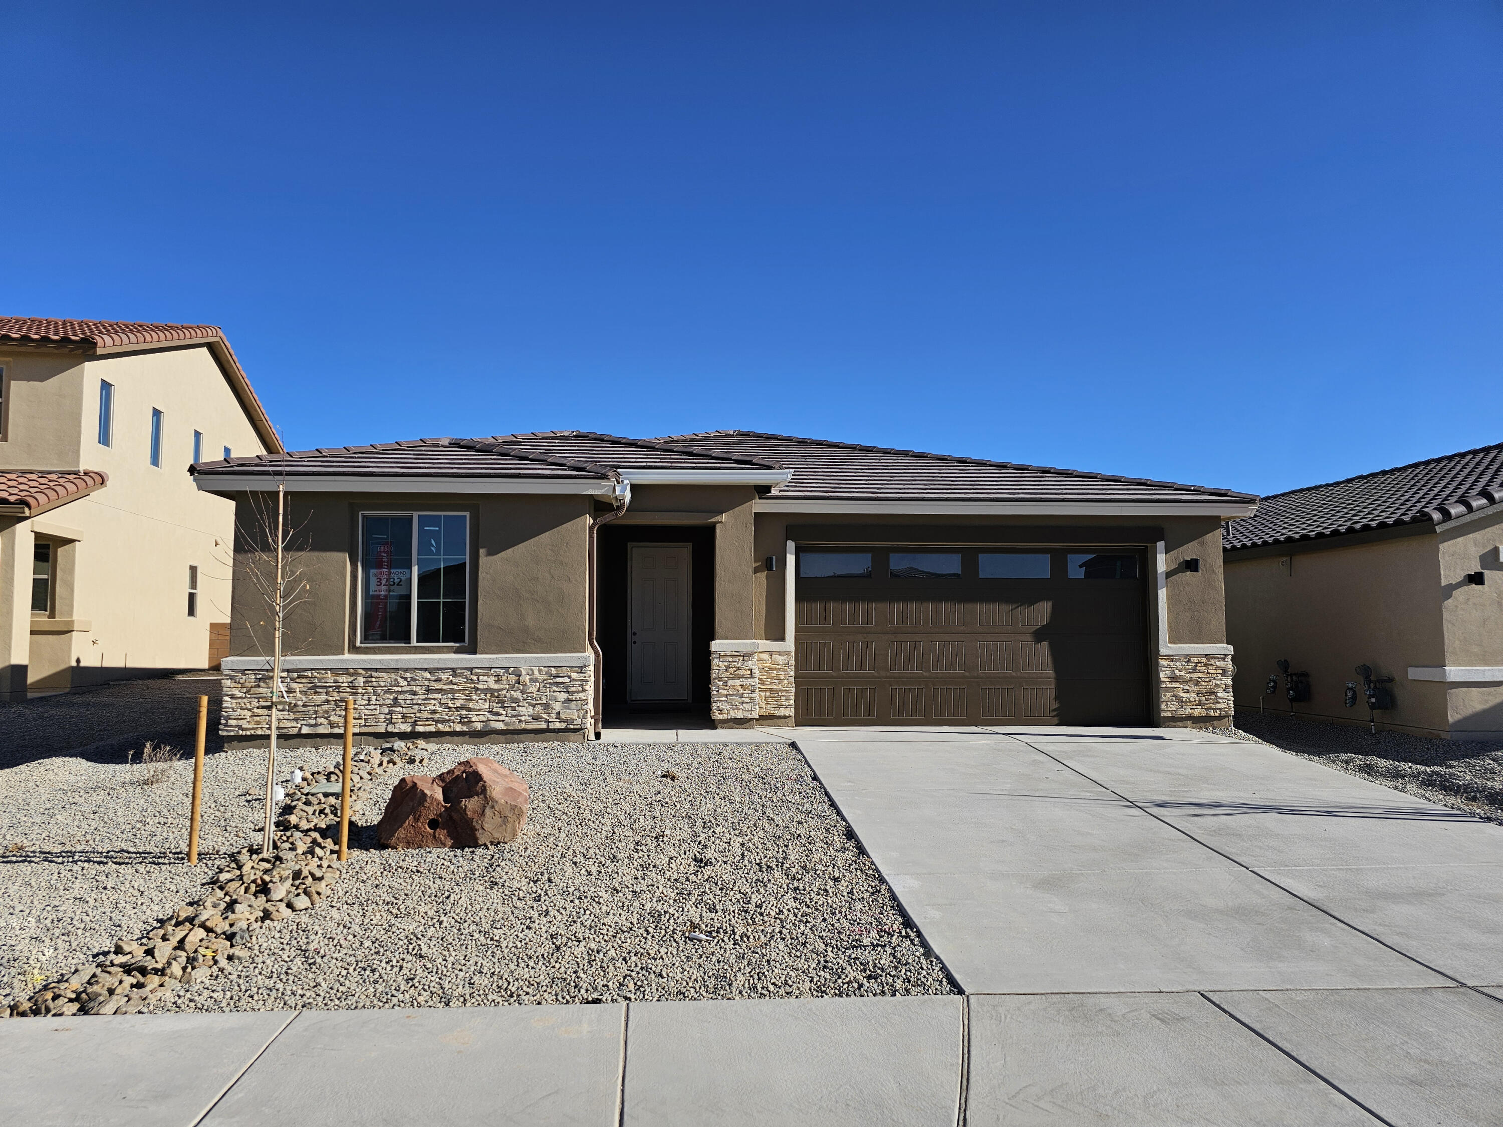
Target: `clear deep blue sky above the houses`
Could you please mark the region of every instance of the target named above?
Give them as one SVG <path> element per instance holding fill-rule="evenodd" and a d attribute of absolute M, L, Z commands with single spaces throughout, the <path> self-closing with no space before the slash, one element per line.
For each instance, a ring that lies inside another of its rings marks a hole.
<path fill-rule="evenodd" d="M 0 313 L 289 446 L 741 427 L 1258 493 L 1503 440 L 1503 8 L 3 3 Z"/>

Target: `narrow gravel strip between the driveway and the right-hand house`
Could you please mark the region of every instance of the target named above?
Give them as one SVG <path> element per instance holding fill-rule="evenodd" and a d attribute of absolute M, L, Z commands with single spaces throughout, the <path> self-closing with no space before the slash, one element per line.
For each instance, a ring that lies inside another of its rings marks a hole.
<path fill-rule="evenodd" d="M 1356 724 L 1237 712 L 1237 729 L 1266 744 L 1374 783 L 1503 822 L 1503 747 L 1431 739 L 1404 732 L 1372 733 Z"/>

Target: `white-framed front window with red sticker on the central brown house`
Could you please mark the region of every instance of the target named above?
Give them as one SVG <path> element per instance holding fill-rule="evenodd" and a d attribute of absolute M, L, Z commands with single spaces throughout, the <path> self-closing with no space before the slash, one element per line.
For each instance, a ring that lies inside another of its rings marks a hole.
<path fill-rule="evenodd" d="M 463 645 L 469 619 L 469 517 L 361 518 L 361 642 Z"/>

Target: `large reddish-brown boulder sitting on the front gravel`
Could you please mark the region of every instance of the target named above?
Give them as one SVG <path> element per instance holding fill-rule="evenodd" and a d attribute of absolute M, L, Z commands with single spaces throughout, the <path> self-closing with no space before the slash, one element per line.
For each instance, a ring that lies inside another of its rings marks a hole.
<path fill-rule="evenodd" d="M 528 820 L 528 784 L 494 759 L 466 759 L 437 778 L 407 775 L 376 826 L 391 849 L 448 849 L 516 841 Z"/>

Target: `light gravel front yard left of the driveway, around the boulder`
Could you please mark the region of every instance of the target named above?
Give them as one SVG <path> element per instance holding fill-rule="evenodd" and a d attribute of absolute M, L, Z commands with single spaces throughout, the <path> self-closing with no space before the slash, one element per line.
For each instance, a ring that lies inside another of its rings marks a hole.
<path fill-rule="evenodd" d="M 355 811 L 323 902 L 153 1011 L 951 993 L 798 751 L 780 744 L 430 747 L 528 780 L 513 844 L 388 851 L 391 772 Z M 328 769 L 338 751 L 290 751 Z M 265 753 L 209 757 L 201 864 L 183 863 L 191 763 L 77 757 L 0 771 L 3 1001 L 135 938 L 259 840 Z M 407 768 L 415 769 L 415 768 Z"/>

